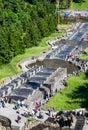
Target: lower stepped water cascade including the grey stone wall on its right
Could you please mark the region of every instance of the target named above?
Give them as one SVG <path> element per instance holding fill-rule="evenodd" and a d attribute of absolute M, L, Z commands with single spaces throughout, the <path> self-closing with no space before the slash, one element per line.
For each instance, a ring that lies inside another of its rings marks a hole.
<path fill-rule="evenodd" d="M 8 100 L 29 100 L 29 102 L 35 102 L 42 100 L 44 97 L 54 94 L 58 90 L 59 81 L 67 77 L 66 68 L 42 68 L 27 82 L 16 88 L 8 96 Z M 62 89 L 62 88 L 61 88 Z M 37 96 L 38 95 L 38 96 Z"/>

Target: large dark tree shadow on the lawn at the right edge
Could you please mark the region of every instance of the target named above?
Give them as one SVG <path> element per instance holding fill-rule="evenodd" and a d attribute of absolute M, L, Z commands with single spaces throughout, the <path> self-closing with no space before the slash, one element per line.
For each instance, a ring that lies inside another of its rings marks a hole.
<path fill-rule="evenodd" d="M 81 108 L 88 108 L 88 83 L 79 86 L 67 96 L 71 99 L 71 101 L 68 101 L 69 104 L 79 104 Z"/>

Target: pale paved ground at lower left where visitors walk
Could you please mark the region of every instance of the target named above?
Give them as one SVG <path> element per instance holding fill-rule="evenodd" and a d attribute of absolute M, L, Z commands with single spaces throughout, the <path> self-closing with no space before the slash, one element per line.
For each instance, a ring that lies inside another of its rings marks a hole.
<path fill-rule="evenodd" d="M 10 119 L 11 126 L 16 126 L 16 127 L 22 128 L 24 126 L 24 124 L 27 122 L 27 118 L 22 116 L 21 114 L 24 113 L 25 111 L 28 111 L 28 109 L 25 107 L 20 107 L 20 109 L 19 109 L 20 113 L 18 114 L 17 110 L 14 110 L 13 107 L 14 107 L 14 104 L 6 103 L 4 108 L 2 108 L 2 107 L 0 108 L 0 115 Z M 32 108 L 30 108 L 29 111 L 32 112 Z M 46 114 L 47 111 L 42 110 L 41 112 L 43 114 L 43 118 L 42 119 L 38 118 L 38 115 L 39 115 L 39 111 L 38 111 L 36 116 L 34 116 L 34 119 L 41 121 L 41 122 L 44 122 L 49 116 Z M 21 116 L 20 123 L 16 122 L 18 115 Z"/>

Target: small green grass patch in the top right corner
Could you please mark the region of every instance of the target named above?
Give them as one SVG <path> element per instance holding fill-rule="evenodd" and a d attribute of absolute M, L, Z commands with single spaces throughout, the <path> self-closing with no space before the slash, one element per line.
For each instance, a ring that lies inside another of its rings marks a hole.
<path fill-rule="evenodd" d="M 74 10 L 88 10 L 88 0 L 84 0 L 82 3 L 73 3 Z"/>

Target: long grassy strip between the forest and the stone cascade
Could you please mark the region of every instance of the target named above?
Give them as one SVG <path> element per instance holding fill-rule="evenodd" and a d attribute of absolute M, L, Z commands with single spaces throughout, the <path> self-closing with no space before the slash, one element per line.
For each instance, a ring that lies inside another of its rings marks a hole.
<path fill-rule="evenodd" d="M 62 25 L 62 29 L 66 29 L 71 27 L 70 25 Z M 40 42 L 40 46 L 38 47 L 32 47 L 25 50 L 25 53 L 22 55 L 18 55 L 12 59 L 12 61 L 9 64 L 1 65 L 0 66 L 0 82 L 2 82 L 3 78 L 16 75 L 21 72 L 20 68 L 18 68 L 18 64 L 24 60 L 25 58 L 30 58 L 31 56 L 38 56 L 41 52 L 46 50 L 48 48 L 47 42 L 50 39 L 53 39 L 55 37 L 60 37 L 65 34 L 64 31 L 60 33 L 53 33 L 49 37 L 45 37 Z"/>

